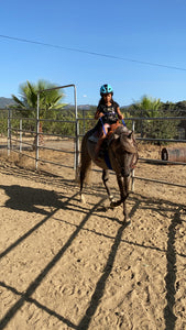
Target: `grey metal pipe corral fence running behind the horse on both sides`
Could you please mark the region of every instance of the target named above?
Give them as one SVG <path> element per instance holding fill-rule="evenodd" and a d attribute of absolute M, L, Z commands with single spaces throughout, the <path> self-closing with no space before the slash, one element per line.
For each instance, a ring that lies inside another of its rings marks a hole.
<path fill-rule="evenodd" d="M 73 87 L 74 88 L 74 113 L 75 113 L 75 119 L 74 120 L 56 120 L 56 119 L 46 119 L 46 118 L 40 118 L 40 94 L 37 95 L 37 110 L 36 110 L 36 118 L 26 118 L 26 117 L 20 117 L 18 118 L 17 116 L 13 114 L 13 109 L 9 109 L 8 111 L 8 139 L 7 139 L 7 148 L 8 148 L 8 156 L 10 155 L 11 152 L 15 152 L 22 155 L 25 155 L 26 157 L 30 157 L 34 160 L 35 162 L 35 169 L 39 169 L 39 164 L 40 162 L 42 163 L 48 163 L 57 166 L 64 166 L 64 167 L 69 167 L 75 170 L 75 176 L 77 173 L 77 168 L 79 165 L 79 155 L 80 155 L 80 150 L 79 150 L 79 144 L 80 144 L 80 139 L 85 134 L 86 128 L 87 128 L 87 122 L 90 123 L 90 125 L 95 124 L 95 120 L 92 118 L 86 118 L 85 112 L 88 113 L 88 110 L 84 111 L 83 118 L 78 116 L 78 110 L 77 110 L 77 101 L 76 101 L 76 87 L 75 85 L 67 85 L 67 86 L 61 86 L 57 88 L 67 88 L 67 87 Z M 50 90 L 50 89 L 48 89 Z M 145 122 L 145 121 L 172 121 L 172 120 L 186 120 L 186 117 L 158 117 L 158 118 L 146 118 L 146 117 L 131 117 L 131 118 L 125 118 L 127 122 L 130 122 L 130 125 L 133 131 L 135 131 L 135 124 L 138 121 Z M 25 128 L 25 122 L 26 124 L 31 122 L 30 129 Z M 46 132 L 41 132 L 40 131 L 40 124 L 50 124 L 50 123 L 59 123 L 59 124 L 70 124 L 74 127 L 74 134 L 59 134 L 59 133 L 53 133 L 50 131 Z M 81 127 L 81 131 L 79 130 L 79 127 Z M 35 128 L 35 129 L 34 129 Z M 32 150 L 33 143 L 30 141 L 23 141 L 23 135 L 30 134 L 32 139 L 35 139 L 35 155 L 31 154 L 25 154 L 24 150 L 25 146 L 28 150 Z M 73 142 L 74 148 L 73 151 L 68 150 L 63 150 L 63 148 L 57 148 L 55 146 L 46 146 L 46 145 L 41 145 L 40 143 L 40 138 L 41 136 L 47 136 L 47 138 L 57 138 L 57 139 L 68 139 Z M 136 135 L 136 141 L 139 142 L 160 142 L 160 143 L 186 143 L 186 140 L 184 139 L 152 139 L 152 138 L 142 138 Z M 18 145 L 17 145 L 18 144 Z M 40 151 L 55 151 L 55 152 L 61 152 L 61 153 L 67 153 L 67 154 L 73 154 L 74 155 L 74 164 L 62 164 L 58 162 L 54 162 L 53 160 L 43 160 L 40 155 Z M 172 164 L 172 165 L 186 165 L 185 162 L 169 162 L 169 161 L 163 161 L 163 160 L 152 160 L 152 158 L 143 158 L 140 157 L 139 162 L 143 163 L 150 163 L 150 164 Z M 135 176 L 134 170 L 132 173 L 132 189 L 134 187 L 134 180 L 140 179 L 140 180 L 146 180 L 146 182 L 156 182 L 157 184 L 165 184 L 165 185 L 172 185 L 176 187 L 183 187 L 185 188 L 185 185 L 177 185 L 176 183 L 167 183 L 164 180 L 155 180 L 151 178 L 144 178 L 144 177 L 139 177 Z"/>

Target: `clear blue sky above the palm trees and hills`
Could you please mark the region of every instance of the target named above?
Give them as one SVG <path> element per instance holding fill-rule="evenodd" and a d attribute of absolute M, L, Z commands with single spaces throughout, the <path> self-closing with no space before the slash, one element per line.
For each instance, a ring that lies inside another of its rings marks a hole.
<path fill-rule="evenodd" d="M 107 82 L 120 106 L 186 100 L 185 14 L 185 0 L 0 1 L 0 97 L 46 79 L 75 84 L 78 105 L 97 105 Z"/>

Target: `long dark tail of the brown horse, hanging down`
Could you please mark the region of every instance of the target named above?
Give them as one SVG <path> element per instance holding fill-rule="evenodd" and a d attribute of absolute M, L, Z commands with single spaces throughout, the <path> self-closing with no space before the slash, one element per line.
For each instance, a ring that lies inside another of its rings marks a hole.
<path fill-rule="evenodd" d="M 83 138 L 81 153 L 80 153 L 80 185 L 86 182 L 89 183 L 89 174 L 91 169 L 91 157 L 87 148 L 88 134 Z"/>

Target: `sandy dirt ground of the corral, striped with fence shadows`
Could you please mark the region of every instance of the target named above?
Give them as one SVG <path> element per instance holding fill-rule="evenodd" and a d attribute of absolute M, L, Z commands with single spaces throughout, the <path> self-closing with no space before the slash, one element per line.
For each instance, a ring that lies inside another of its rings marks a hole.
<path fill-rule="evenodd" d="M 0 157 L 0 329 L 186 329 L 185 188 L 136 179 L 125 226 L 100 173 L 83 205 L 72 168 Z M 186 186 L 183 165 L 140 162 L 135 175 Z M 118 197 L 113 175 L 110 185 Z"/>

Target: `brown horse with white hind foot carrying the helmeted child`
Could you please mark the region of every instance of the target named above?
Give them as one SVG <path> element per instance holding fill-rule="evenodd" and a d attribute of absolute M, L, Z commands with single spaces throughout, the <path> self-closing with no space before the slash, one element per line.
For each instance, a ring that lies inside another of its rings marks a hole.
<path fill-rule="evenodd" d="M 81 142 L 80 160 L 80 199 L 83 196 L 84 182 L 87 179 L 91 168 L 91 161 L 102 168 L 102 180 L 110 199 L 110 207 L 114 208 L 123 204 L 124 221 L 127 220 L 125 199 L 129 196 L 130 174 L 138 162 L 138 150 L 134 135 L 125 127 L 119 125 L 109 138 L 106 138 L 105 152 L 99 160 L 95 158 L 96 139 L 94 130 L 88 131 Z M 107 185 L 109 169 L 114 170 L 118 186 L 120 189 L 120 199 L 113 200 L 110 189 Z"/>

